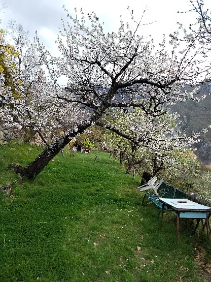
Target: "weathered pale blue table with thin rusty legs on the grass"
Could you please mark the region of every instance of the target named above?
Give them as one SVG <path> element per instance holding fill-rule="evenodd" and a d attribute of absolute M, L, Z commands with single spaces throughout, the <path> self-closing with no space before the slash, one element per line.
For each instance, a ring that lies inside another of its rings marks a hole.
<path fill-rule="evenodd" d="M 179 219 L 180 218 L 196 218 L 197 220 L 205 219 L 206 232 L 209 238 L 208 218 L 210 217 L 210 214 L 211 214 L 211 207 L 200 205 L 188 199 L 159 198 L 159 201 L 162 203 L 161 225 L 163 221 L 164 206 L 169 210 L 173 210 L 177 216 L 177 242 L 179 242 Z M 184 202 L 184 203 L 181 203 L 181 202 Z"/>

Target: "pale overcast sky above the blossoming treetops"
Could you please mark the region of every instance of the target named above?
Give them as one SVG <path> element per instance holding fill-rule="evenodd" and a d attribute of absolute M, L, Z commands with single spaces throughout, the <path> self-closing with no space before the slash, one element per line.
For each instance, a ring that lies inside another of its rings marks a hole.
<path fill-rule="evenodd" d="M 155 23 L 143 25 L 139 33 L 151 34 L 155 39 L 162 39 L 162 34 L 168 36 L 177 29 L 177 21 L 190 23 L 190 17 L 193 16 L 190 13 L 177 13 L 189 10 L 189 0 L 0 0 L 0 3 L 7 7 L 2 10 L 0 16 L 3 27 L 10 19 L 20 21 L 24 28 L 28 29 L 31 38 L 37 29 L 41 40 L 47 45 L 55 41 L 58 26 L 61 26 L 60 18 L 65 17 L 63 4 L 69 12 L 75 7 L 83 8 L 86 13 L 94 11 L 108 31 L 117 28 L 120 15 L 126 21 L 130 20 L 128 6 L 134 10 L 135 19 L 138 21 L 147 5 L 143 24 L 152 21 Z"/>

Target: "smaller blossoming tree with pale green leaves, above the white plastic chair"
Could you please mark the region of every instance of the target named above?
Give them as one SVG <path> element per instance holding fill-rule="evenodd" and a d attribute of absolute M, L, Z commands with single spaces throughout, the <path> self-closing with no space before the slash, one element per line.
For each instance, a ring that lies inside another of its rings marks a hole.
<path fill-rule="evenodd" d="M 140 164 L 148 167 L 153 176 L 161 169 L 177 168 L 187 159 L 188 148 L 198 139 L 198 134 L 188 137 L 181 132 L 177 113 L 166 112 L 149 118 L 136 108 L 133 111 L 124 109 L 115 114 L 107 113 L 105 119 L 105 128 L 110 131 L 103 135 L 102 145 L 114 152 L 124 151 L 128 173 L 134 165 Z M 102 123 L 103 118 L 101 126 Z M 117 131 L 118 134 L 115 133 Z M 126 139 L 121 134 L 126 135 Z"/>

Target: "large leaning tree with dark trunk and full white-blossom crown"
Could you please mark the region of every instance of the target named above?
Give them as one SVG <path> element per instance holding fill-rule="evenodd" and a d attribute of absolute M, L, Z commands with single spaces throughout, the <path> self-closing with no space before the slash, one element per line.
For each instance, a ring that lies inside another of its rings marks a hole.
<path fill-rule="evenodd" d="M 139 23 L 130 26 L 121 20 L 117 32 L 105 34 L 94 13 L 87 15 L 87 22 L 82 10 L 81 17 L 77 11 L 75 16 L 65 11 L 69 22 L 62 21 L 57 39 L 60 56 L 52 56 L 38 36 L 37 44 L 54 83 L 55 101 L 61 101 L 60 107 L 77 105 L 80 110 L 73 126 L 36 160 L 26 167 L 13 165 L 28 178 L 36 177 L 71 139 L 99 122 L 107 110 L 138 107 L 151 118 L 161 116 L 162 105 L 192 95 L 185 85 L 196 83 L 203 71 L 194 42 L 180 46 L 172 41 L 172 50 L 167 51 L 163 39 L 156 49 L 153 40 L 138 35 Z M 59 86 L 60 77 L 66 77 L 65 87 Z M 45 95 L 51 96 L 51 91 Z"/>

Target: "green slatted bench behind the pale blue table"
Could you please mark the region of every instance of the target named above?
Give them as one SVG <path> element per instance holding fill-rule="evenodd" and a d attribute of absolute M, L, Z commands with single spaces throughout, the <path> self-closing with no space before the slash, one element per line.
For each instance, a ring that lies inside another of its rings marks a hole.
<path fill-rule="evenodd" d="M 151 202 L 153 202 L 157 208 L 159 209 L 158 218 L 160 215 L 160 211 L 162 209 L 162 203 L 159 201 L 159 198 L 169 198 L 169 199 L 184 199 L 186 198 L 186 193 L 175 188 L 171 184 L 163 181 L 158 190 L 158 196 L 155 194 L 147 193 L 144 196 L 142 204 L 144 204 L 145 199 L 148 198 Z M 167 207 L 164 206 L 164 209 L 167 210 Z M 169 210 L 169 209 L 168 209 Z M 157 220 L 158 220 L 157 218 Z"/>

